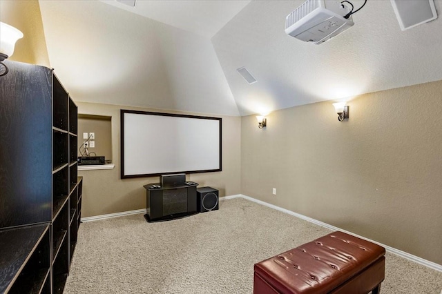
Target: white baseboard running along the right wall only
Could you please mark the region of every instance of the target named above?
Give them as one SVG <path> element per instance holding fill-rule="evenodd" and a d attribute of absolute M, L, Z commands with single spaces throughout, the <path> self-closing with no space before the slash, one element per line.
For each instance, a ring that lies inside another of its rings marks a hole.
<path fill-rule="evenodd" d="M 311 222 L 311 223 L 317 224 L 318 226 L 323 226 L 323 227 L 325 227 L 325 228 L 329 228 L 329 229 L 332 230 L 332 231 L 341 231 L 341 232 L 347 233 L 347 234 L 349 234 L 349 235 L 354 235 L 354 236 L 359 237 L 359 238 L 361 238 L 361 239 L 365 239 L 365 240 L 367 240 L 367 241 L 369 241 L 369 242 L 373 242 L 373 243 L 375 243 L 375 244 L 378 244 L 378 245 L 380 245 L 380 246 L 383 246 L 383 247 L 385 248 L 385 250 L 388 251 L 388 252 L 390 252 L 390 253 L 394 253 L 394 254 L 396 254 L 396 255 L 399 255 L 400 257 L 403 257 L 403 258 L 409 259 L 409 260 L 411 260 L 412 262 L 416 262 L 416 263 L 418 263 L 418 264 L 423 264 L 424 266 L 427 266 L 427 267 L 432 268 L 432 269 L 434 269 L 434 270 L 436 270 L 436 271 L 441 271 L 441 272 L 442 272 L 442 265 L 441 265 L 441 264 L 436 264 L 435 262 L 430 262 L 430 261 L 427 260 L 427 259 L 423 259 L 423 258 L 421 258 L 421 257 L 417 257 L 416 255 L 412 255 L 412 254 L 407 253 L 407 252 L 405 252 L 405 251 L 398 250 L 398 249 L 396 249 L 396 248 L 393 248 L 393 247 L 387 246 L 387 245 L 382 244 L 382 243 L 380 243 L 380 242 L 376 242 L 376 241 L 374 241 L 374 240 L 372 240 L 372 239 L 368 239 L 368 238 L 366 238 L 366 237 L 363 237 L 363 236 L 360 236 L 360 235 L 356 235 L 356 234 L 354 234 L 354 233 L 352 233 L 352 232 L 345 231 L 345 230 L 343 230 L 342 228 L 338 228 L 338 227 L 336 227 L 336 226 L 332 226 L 332 225 L 330 225 L 330 224 L 326 224 L 325 222 L 320 222 L 320 221 L 318 221 L 317 219 L 312 219 L 311 217 L 306 217 L 305 215 L 300 215 L 299 213 L 294 213 L 294 212 L 291 211 L 291 210 L 287 210 L 287 209 L 285 209 L 285 208 L 280 208 L 279 206 L 276 206 L 276 205 L 273 205 L 273 204 L 269 204 L 269 203 L 267 203 L 267 202 L 263 202 L 263 201 L 261 201 L 261 200 L 258 200 L 258 199 L 255 199 L 255 198 L 252 198 L 252 197 L 249 197 L 249 196 L 246 196 L 246 195 L 242 195 L 242 194 L 239 195 L 239 196 L 238 196 L 238 195 L 235 195 L 235 197 L 233 197 L 233 198 L 236 198 L 236 197 L 242 197 L 242 198 L 247 199 L 247 200 L 250 200 L 250 201 L 252 201 L 252 202 L 256 202 L 256 203 L 258 203 L 258 204 L 262 204 L 262 205 L 264 205 L 264 206 L 267 206 L 267 207 L 270 207 L 270 208 L 273 208 L 273 209 L 276 209 L 276 210 L 280 210 L 280 211 L 282 211 L 283 213 L 287 213 L 287 214 L 289 214 L 289 215 L 293 215 L 293 216 L 295 216 L 295 217 L 299 217 L 300 219 L 304 219 L 304 220 L 306 220 L 307 222 Z M 442 294 L 442 293 L 441 293 L 441 294 Z"/>

